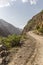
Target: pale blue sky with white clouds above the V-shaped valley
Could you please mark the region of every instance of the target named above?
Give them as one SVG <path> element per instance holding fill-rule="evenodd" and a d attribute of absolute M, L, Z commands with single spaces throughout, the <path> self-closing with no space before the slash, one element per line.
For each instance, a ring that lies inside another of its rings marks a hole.
<path fill-rule="evenodd" d="M 43 10 L 43 0 L 0 0 L 0 19 L 22 28 Z"/>

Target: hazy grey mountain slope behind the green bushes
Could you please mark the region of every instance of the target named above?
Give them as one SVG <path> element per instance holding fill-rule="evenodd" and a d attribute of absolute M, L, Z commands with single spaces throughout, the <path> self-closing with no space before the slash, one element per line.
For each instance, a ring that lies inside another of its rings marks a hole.
<path fill-rule="evenodd" d="M 0 19 L 0 36 L 8 36 L 11 34 L 20 34 L 21 30 Z"/>

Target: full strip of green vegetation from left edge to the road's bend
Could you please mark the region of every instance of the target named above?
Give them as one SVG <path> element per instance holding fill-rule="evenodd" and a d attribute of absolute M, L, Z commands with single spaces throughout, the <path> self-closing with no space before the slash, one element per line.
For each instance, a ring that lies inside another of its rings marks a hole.
<path fill-rule="evenodd" d="M 20 47 L 20 41 L 25 40 L 26 35 L 9 35 L 8 37 L 0 37 L 0 44 L 5 45 L 8 49 L 13 47 Z"/>

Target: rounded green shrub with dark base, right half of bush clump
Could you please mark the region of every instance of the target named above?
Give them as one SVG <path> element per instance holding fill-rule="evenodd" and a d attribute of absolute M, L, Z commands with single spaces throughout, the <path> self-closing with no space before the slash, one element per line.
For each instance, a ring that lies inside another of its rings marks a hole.
<path fill-rule="evenodd" d="M 19 46 L 20 45 L 20 39 L 21 36 L 12 35 L 10 38 L 10 44 L 12 47 Z"/>

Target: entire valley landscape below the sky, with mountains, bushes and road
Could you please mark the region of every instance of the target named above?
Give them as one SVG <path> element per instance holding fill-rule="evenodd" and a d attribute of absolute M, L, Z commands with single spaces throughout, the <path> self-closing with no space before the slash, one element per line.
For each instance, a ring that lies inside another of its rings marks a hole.
<path fill-rule="evenodd" d="M 43 10 L 23 30 L 0 19 L 0 65 L 43 65 Z"/>

